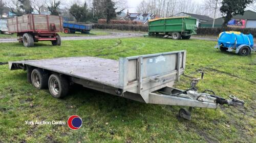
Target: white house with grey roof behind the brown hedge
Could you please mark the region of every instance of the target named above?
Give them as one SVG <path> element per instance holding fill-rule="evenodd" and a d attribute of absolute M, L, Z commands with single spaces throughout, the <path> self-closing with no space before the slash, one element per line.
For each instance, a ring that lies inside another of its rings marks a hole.
<path fill-rule="evenodd" d="M 154 14 L 152 13 L 129 13 L 129 11 L 127 10 L 126 16 L 120 18 L 120 20 L 139 21 L 143 24 L 146 24 L 148 20 L 154 18 Z"/>

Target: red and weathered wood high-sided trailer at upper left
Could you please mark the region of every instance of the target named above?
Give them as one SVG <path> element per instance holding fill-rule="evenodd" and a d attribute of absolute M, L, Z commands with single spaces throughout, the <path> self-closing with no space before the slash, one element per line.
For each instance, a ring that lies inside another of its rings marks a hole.
<path fill-rule="evenodd" d="M 26 14 L 8 19 L 8 32 L 17 33 L 18 41 L 25 47 L 32 47 L 38 41 L 51 41 L 54 46 L 60 45 L 61 38 L 57 33 L 62 30 L 61 16 Z"/>

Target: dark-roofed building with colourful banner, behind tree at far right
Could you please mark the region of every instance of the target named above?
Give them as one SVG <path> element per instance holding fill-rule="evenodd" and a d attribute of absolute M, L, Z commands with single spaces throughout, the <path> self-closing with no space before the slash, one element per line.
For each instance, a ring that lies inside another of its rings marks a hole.
<path fill-rule="evenodd" d="M 212 27 L 214 20 L 201 22 L 201 27 Z M 216 18 L 214 27 L 221 27 L 224 22 L 224 18 Z M 238 28 L 256 28 L 256 12 L 247 10 L 243 15 L 235 15 L 230 21 L 228 21 L 229 27 Z"/>

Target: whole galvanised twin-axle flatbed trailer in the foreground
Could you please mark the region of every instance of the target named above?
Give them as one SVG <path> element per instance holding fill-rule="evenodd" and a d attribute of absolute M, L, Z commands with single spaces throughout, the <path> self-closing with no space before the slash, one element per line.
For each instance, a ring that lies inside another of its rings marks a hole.
<path fill-rule="evenodd" d="M 144 103 L 189 106 L 181 108 L 181 117 L 190 120 L 192 107 L 217 108 L 218 104 L 243 104 L 215 95 L 174 89 L 185 70 L 186 51 L 174 51 L 120 58 L 71 57 L 9 62 L 10 70 L 27 70 L 27 79 L 35 88 L 49 88 L 55 98 L 66 96 L 71 83 Z"/>

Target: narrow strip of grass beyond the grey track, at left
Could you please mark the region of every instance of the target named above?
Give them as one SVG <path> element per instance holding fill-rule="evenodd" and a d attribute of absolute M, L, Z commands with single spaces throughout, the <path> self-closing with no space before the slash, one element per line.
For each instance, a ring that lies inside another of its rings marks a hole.
<path fill-rule="evenodd" d="M 80 32 L 76 32 L 75 34 L 66 34 L 66 33 L 59 33 L 61 37 L 80 37 L 80 36 L 102 36 L 102 35 L 109 35 L 109 32 L 99 31 L 99 30 L 92 30 L 90 34 L 81 34 Z M 0 38 L 17 38 L 16 34 L 7 35 L 7 34 L 0 34 Z"/>

